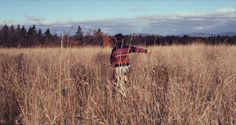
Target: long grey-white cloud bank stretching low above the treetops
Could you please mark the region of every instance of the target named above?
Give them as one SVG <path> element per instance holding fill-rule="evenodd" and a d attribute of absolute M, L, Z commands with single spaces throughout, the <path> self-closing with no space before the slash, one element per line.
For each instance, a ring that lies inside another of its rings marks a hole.
<path fill-rule="evenodd" d="M 14 21 L 6 21 L 15 23 Z M 135 18 L 116 18 L 103 20 L 76 20 L 72 18 L 62 20 L 48 20 L 33 16 L 26 16 L 27 23 L 36 23 L 44 27 L 59 30 L 76 30 L 101 28 L 109 34 L 121 33 L 159 33 L 181 34 L 189 32 L 236 32 L 236 8 L 221 8 L 212 13 L 176 12 L 170 15 L 153 15 Z M 74 27 L 74 28 L 72 28 Z"/>

